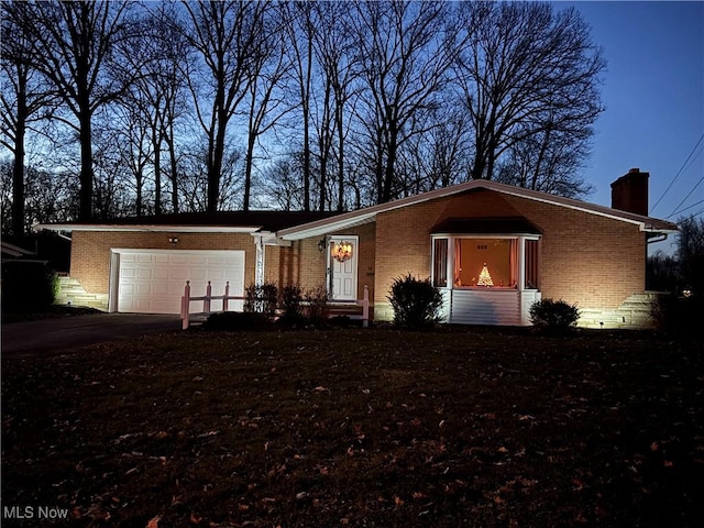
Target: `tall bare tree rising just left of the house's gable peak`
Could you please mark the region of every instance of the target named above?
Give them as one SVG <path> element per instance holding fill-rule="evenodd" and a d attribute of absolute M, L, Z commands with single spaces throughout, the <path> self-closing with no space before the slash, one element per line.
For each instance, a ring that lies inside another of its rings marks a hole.
<path fill-rule="evenodd" d="M 437 127 L 438 108 L 453 48 L 444 46 L 444 2 L 360 2 L 351 23 L 359 40 L 365 105 L 358 117 L 373 160 L 376 201 L 397 194 L 396 162 L 404 143 Z"/>

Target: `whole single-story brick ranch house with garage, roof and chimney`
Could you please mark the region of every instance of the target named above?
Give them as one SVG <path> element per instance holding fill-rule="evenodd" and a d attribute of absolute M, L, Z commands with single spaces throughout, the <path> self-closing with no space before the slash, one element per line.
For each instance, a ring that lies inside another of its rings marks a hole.
<path fill-rule="evenodd" d="M 613 184 L 616 208 L 474 180 L 339 215 L 189 213 L 42 227 L 73 233 L 70 275 L 107 295 L 110 311 L 177 314 L 186 280 L 194 296 L 208 280 L 213 295 L 226 280 L 230 295 L 275 282 L 324 284 L 340 302 L 369 286 L 373 318 L 388 320 L 391 284 L 411 273 L 441 288 L 449 322 L 527 324 L 530 305 L 552 297 L 576 302 L 584 326 L 640 327 L 648 239 L 676 232 L 644 215 L 647 194 L 648 174 L 631 169 Z"/>

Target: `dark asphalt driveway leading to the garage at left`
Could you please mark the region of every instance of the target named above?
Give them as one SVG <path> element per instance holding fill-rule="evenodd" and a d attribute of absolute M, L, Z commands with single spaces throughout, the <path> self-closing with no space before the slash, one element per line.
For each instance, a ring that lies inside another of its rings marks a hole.
<path fill-rule="evenodd" d="M 96 314 L 2 324 L 3 359 L 58 352 L 146 333 L 180 330 L 174 315 Z"/>

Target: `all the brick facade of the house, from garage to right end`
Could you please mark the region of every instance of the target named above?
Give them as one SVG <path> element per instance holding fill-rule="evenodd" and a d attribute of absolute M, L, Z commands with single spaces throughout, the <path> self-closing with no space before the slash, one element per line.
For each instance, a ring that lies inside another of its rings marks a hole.
<path fill-rule="evenodd" d="M 375 223 L 330 234 L 358 235 L 358 298 L 370 287 L 378 318 L 388 318 L 386 296 L 394 278 L 413 273 L 430 275 L 430 231 L 450 218 L 525 217 L 543 232 L 542 297 L 562 298 L 582 308 L 616 309 L 645 288 L 645 234 L 638 227 L 559 206 L 488 190 L 470 191 L 380 213 Z M 72 276 L 90 293 L 107 294 L 110 249 L 244 250 L 245 285 L 254 282 L 255 246 L 249 233 L 114 233 L 76 231 Z M 304 289 L 323 284 L 327 252 L 321 237 L 295 241 L 290 248 L 265 249 L 265 278 L 298 284 Z"/>

